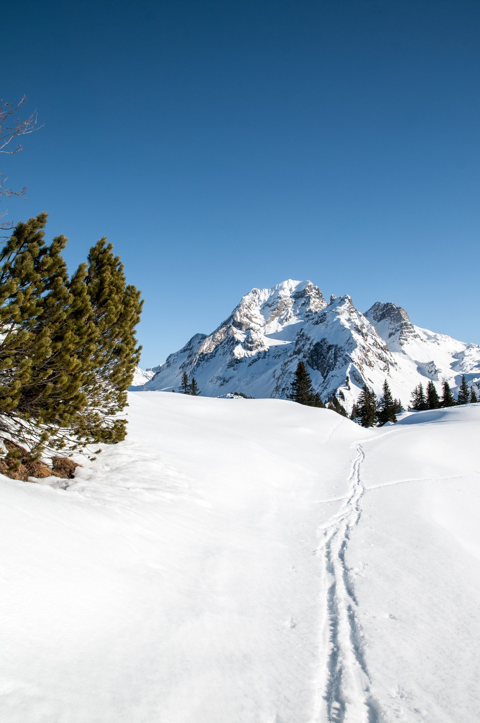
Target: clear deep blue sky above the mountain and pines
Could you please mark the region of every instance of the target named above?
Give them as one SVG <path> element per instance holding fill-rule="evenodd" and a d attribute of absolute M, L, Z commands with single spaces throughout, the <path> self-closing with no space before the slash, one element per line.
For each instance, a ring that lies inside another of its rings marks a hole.
<path fill-rule="evenodd" d="M 286 278 L 480 342 L 477 0 L 27 0 L 1 33 L 45 124 L 2 205 L 71 270 L 113 242 L 143 367 Z"/>

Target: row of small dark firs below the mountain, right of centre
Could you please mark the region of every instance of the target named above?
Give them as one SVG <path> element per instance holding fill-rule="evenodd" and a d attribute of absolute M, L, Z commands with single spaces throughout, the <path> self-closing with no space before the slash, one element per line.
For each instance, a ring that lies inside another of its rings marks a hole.
<path fill-rule="evenodd" d="M 350 388 L 349 382 L 350 380 L 347 375 L 346 386 L 348 389 Z M 383 394 L 380 399 L 377 399 L 377 395 L 374 391 L 364 383 L 358 400 L 356 403 L 353 403 L 350 419 L 353 422 L 361 424 L 362 427 L 374 427 L 375 425 L 382 427 L 387 422 L 395 424 L 397 421 L 397 414 L 400 414 L 405 410 L 403 409 L 400 400 L 393 398 L 387 380 L 383 383 L 382 392 Z M 339 395 L 341 395 L 343 400 L 345 400 L 341 390 Z M 307 372 L 307 367 L 305 367 L 304 361 L 299 361 L 297 364 L 295 374 L 293 376 L 293 382 L 291 384 L 291 391 L 287 395 L 287 398 L 307 406 L 326 407 L 336 411 L 337 414 L 340 414 L 341 416 L 348 416 L 345 407 L 340 403 L 336 395 L 330 396 L 327 405 L 322 402 L 320 394 L 314 391 L 312 379 L 309 372 Z M 457 404 L 476 403 L 478 401 L 479 400 L 475 391 L 473 388 L 468 388 L 465 375 L 463 375 L 462 383 L 458 390 L 457 401 L 455 401 L 455 397 L 453 396 L 453 392 L 450 389 L 448 382 L 443 382 L 442 397 L 440 398 L 434 383 L 429 381 L 426 392 L 424 392 L 424 388 L 421 384 L 413 390 L 411 396 L 411 406 L 409 406 L 409 409 L 422 411 L 425 409 L 450 407 Z"/>

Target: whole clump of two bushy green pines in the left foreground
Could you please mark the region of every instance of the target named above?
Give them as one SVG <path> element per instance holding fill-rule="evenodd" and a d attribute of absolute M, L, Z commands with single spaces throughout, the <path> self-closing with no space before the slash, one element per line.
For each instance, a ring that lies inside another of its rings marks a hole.
<path fill-rule="evenodd" d="M 105 238 L 69 277 L 46 223 L 18 223 L 0 251 L 0 437 L 37 455 L 124 439 L 143 304 Z"/>

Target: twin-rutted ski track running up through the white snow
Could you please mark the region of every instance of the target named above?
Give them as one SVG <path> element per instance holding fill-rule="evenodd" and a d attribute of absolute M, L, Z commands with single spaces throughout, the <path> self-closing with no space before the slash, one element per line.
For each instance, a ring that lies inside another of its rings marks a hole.
<path fill-rule="evenodd" d="M 350 493 L 338 515 L 327 523 L 319 550 L 325 560 L 326 589 L 321 645 L 322 650 L 327 651 L 312 719 L 319 723 L 325 720 L 328 723 L 380 723 L 380 706 L 370 690 L 363 632 L 356 614 L 358 602 L 345 560 L 366 491 L 361 482 L 364 450 L 360 443 L 355 447 L 357 455 L 349 478 Z"/>

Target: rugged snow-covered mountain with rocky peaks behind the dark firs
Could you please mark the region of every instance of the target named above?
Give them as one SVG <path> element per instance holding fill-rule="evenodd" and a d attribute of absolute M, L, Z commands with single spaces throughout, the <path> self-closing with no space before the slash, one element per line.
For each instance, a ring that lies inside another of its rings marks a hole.
<path fill-rule="evenodd" d="M 205 396 L 286 398 L 300 359 L 324 401 L 337 393 L 348 409 L 364 382 L 380 395 L 387 378 L 405 407 L 420 382 L 439 392 L 444 379 L 455 391 L 462 374 L 480 382 L 480 346 L 416 327 L 395 304 L 377 301 L 361 314 L 348 295 L 327 302 L 311 281 L 289 279 L 252 289 L 213 333 L 168 356 L 143 390 L 176 390 L 187 372 Z"/>

